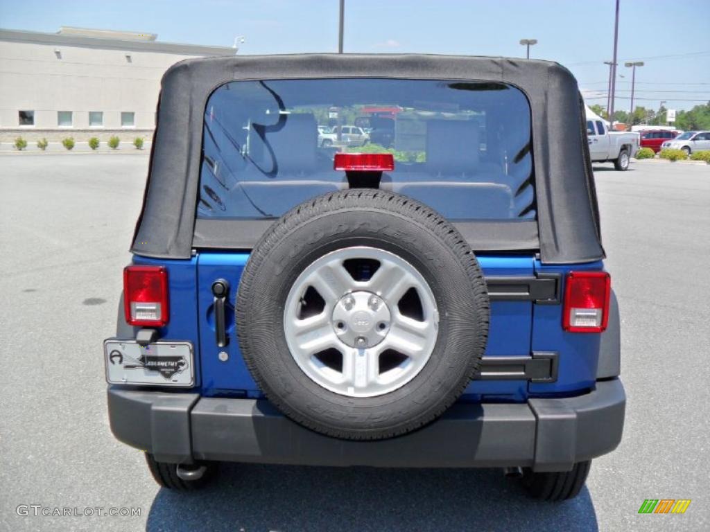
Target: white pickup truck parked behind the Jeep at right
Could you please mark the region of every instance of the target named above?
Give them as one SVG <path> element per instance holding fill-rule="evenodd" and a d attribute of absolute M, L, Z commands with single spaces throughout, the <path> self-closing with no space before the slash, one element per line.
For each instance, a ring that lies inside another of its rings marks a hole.
<path fill-rule="evenodd" d="M 592 162 L 613 162 L 616 170 L 628 170 L 628 163 L 640 145 L 639 133 L 608 131 L 606 121 L 586 109 L 586 136 Z"/>

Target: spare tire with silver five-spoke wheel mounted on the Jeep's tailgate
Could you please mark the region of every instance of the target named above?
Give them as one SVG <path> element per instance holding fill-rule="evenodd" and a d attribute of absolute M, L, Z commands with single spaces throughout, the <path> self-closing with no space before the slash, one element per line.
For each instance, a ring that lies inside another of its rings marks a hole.
<path fill-rule="evenodd" d="M 377 189 L 318 196 L 276 221 L 239 284 L 241 353 L 302 426 L 351 440 L 408 433 L 479 370 L 488 294 L 459 231 Z"/>

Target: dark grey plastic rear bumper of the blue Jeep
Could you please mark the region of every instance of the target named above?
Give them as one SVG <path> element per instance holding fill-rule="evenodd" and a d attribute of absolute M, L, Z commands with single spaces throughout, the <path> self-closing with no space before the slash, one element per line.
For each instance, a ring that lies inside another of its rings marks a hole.
<path fill-rule="evenodd" d="M 526 404 L 455 404 L 420 431 L 355 442 L 322 436 L 268 401 L 109 387 L 116 438 L 157 460 L 377 467 L 532 467 L 563 471 L 621 441 L 626 395 L 619 379 L 579 397 Z"/>

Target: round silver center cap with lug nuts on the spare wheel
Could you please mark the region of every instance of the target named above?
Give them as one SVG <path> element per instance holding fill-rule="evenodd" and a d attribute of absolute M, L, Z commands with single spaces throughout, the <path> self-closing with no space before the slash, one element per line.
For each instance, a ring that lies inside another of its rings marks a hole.
<path fill-rule="evenodd" d="M 333 309 L 332 326 L 345 345 L 369 348 L 387 336 L 390 319 L 385 301 L 377 294 L 361 290 L 338 300 Z"/>

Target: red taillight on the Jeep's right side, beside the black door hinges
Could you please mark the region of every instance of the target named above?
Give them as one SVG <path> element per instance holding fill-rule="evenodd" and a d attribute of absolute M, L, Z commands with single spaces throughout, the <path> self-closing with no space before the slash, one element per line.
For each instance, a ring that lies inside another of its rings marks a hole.
<path fill-rule="evenodd" d="M 609 321 L 611 277 L 606 272 L 569 272 L 562 325 L 570 333 L 601 333 Z"/>

